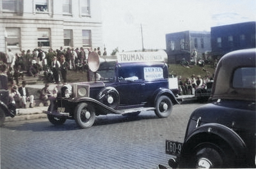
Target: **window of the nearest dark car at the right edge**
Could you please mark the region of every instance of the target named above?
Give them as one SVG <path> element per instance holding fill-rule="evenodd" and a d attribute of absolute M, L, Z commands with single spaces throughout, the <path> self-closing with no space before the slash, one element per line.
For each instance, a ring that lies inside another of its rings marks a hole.
<path fill-rule="evenodd" d="M 234 88 L 255 89 L 255 68 L 238 68 L 234 72 L 232 85 Z"/>

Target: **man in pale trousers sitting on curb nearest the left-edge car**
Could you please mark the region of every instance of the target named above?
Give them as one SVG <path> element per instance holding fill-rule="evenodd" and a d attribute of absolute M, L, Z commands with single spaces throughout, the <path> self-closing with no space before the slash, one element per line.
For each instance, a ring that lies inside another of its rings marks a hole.
<path fill-rule="evenodd" d="M 34 96 L 29 95 L 28 89 L 25 87 L 26 86 L 26 81 L 22 82 L 22 86 L 19 87 L 18 91 L 20 93 L 21 101 L 22 101 L 22 108 L 26 108 L 26 101 L 29 101 L 29 107 L 33 108 L 34 107 Z"/>

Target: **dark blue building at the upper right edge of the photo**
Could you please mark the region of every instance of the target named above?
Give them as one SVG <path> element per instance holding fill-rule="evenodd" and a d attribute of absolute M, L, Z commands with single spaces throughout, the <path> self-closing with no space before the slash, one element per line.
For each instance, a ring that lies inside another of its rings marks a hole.
<path fill-rule="evenodd" d="M 211 45 L 215 59 L 233 50 L 255 48 L 255 22 L 211 27 Z"/>

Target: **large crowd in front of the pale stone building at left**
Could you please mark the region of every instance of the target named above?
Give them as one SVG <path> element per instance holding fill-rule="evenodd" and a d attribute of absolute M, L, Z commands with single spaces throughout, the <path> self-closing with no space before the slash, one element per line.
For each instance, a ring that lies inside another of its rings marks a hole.
<path fill-rule="evenodd" d="M 11 49 L 4 54 L 0 52 L 1 75 L 6 76 L 8 81 L 8 89 L 10 89 L 10 100 L 15 101 L 17 108 L 26 108 L 26 102 L 29 101 L 29 107 L 34 107 L 34 96 L 29 94 L 26 89 L 26 81 L 24 76 L 37 77 L 44 72 L 45 87 L 40 91 L 40 99 L 47 106 L 47 100 L 53 97 L 49 91 L 49 83 L 67 84 L 68 70 L 72 71 L 88 71 L 87 59 L 92 48 L 63 48 L 43 51 L 35 48 L 33 51 L 22 50 L 20 54 L 13 54 Z M 94 48 L 97 54 L 102 55 L 100 48 Z M 103 55 L 107 55 L 104 48 Z M 21 84 L 20 84 L 21 82 Z"/>

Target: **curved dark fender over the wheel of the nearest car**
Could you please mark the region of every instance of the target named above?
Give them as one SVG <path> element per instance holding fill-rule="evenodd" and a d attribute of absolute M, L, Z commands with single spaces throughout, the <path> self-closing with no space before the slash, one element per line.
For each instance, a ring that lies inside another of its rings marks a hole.
<path fill-rule="evenodd" d="M 227 126 L 216 123 L 204 124 L 192 131 L 191 134 L 187 136 L 184 140 L 182 151 L 180 153 L 181 156 L 183 153 L 191 151 L 191 147 L 196 145 L 196 143 L 202 142 L 202 138 L 208 138 L 208 142 L 212 141 L 213 143 L 218 142 L 216 142 L 216 140 L 212 138 L 220 138 L 230 146 L 232 152 L 235 153 L 237 159 L 242 160 L 245 156 L 246 144 L 244 143 L 242 138 L 237 135 L 235 131 L 228 128 Z"/>

